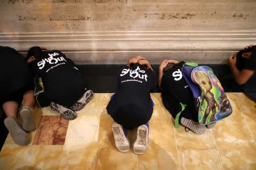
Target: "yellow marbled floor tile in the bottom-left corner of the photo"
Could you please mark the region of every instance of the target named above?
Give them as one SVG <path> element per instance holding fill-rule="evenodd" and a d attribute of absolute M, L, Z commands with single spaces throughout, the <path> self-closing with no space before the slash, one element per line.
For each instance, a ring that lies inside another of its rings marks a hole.
<path fill-rule="evenodd" d="M 0 154 L 0 169 L 56 169 L 63 145 L 5 147 Z"/>

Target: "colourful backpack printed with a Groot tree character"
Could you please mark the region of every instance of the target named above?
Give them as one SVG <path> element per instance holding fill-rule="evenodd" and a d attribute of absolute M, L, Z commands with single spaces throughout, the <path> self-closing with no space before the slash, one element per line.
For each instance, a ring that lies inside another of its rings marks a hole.
<path fill-rule="evenodd" d="M 212 124 L 232 114 L 228 97 L 210 67 L 187 62 L 181 72 L 193 93 L 198 122 L 201 125 Z"/>

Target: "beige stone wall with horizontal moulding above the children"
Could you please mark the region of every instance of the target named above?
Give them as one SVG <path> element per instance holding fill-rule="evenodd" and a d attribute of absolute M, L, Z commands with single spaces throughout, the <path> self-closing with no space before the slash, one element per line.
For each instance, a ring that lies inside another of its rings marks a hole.
<path fill-rule="evenodd" d="M 225 63 L 256 44 L 254 0 L 2 0 L 0 45 L 62 50 L 76 63 Z"/>

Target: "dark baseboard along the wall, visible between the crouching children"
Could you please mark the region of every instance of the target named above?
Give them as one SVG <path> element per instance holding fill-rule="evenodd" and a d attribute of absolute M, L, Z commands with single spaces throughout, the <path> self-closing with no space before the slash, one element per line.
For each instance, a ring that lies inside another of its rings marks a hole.
<path fill-rule="evenodd" d="M 226 92 L 242 92 L 242 88 L 232 78 L 228 65 L 215 64 L 207 66 L 213 69 L 214 74 L 216 74 Z M 96 93 L 108 93 L 115 92 L 117 89 L 117 76 L 125 65 L 79 65 L 78 67 L 85 76 L 88 89 Z M 160 92 L 157 85 L 159 65 L 152 65 L 152 67 L 156 75 L 156 87 L 153 92 Z"/>

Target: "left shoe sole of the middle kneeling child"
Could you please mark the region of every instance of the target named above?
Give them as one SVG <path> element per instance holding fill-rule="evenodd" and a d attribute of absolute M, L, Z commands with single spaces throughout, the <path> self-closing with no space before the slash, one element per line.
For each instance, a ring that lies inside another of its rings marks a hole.
<path fill-rule="evenodd" d="M 128 152 L 130 149 L 130 142 L 126 136 L 126 130 L 122 128 L 117 122 L 113 122 L 112 130 L 114 134 L 115 146 L 120 152 Z"/>

